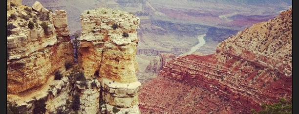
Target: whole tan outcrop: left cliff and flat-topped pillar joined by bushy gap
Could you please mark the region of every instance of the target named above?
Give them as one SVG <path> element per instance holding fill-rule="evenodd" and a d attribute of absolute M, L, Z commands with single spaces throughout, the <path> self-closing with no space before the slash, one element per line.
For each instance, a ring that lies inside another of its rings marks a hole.
<path fill-rule="evenodd" d="M 73 45 L 64 10 L 52 14 L 38 1 L 32 7 L 10 6 L 7 102 L 16 104 L 7 106 L 10 111 L 140 114 L 138 17 L 112 9 L 85 11 L 79 65 L 71 65 Z"/>

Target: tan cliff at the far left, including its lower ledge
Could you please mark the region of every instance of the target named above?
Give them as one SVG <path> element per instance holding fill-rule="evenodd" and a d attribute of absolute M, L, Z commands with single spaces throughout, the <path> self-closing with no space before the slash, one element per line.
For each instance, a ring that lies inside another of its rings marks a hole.
<path fill-rule="evenodd" d="M 68 78 L 54 78 L 56 72 L 67 74 L 64 64 L 74 61 L 66 12 L 52 13 L 38 1 L 32 7 L 7 2 L 14 4 L 7 8 L 7 104 L 15 106 L 10 111 L 32 114 L 39 106 L 48 114 L 69 111 Z"/>

